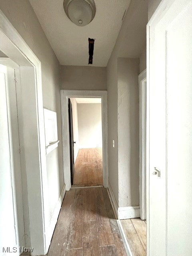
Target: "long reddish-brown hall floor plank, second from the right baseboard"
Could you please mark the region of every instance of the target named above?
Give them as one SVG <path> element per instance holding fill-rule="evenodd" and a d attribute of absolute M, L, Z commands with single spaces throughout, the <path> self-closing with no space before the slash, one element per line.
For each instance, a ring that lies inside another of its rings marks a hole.
<path fill-rule="evenodd" d="M 106 210 L 102 188 L 98 188 L 98 194 L 96 197 L 96 206 L 97 206 L 97 212 L 98 212 L 97 225 L 98 225 L 99 244 L 100 246 L 113 245 L 114 238 L 113 238 L 112 229 L 110 226 L 110 221 L 109 221 L 107 210 Z"/>

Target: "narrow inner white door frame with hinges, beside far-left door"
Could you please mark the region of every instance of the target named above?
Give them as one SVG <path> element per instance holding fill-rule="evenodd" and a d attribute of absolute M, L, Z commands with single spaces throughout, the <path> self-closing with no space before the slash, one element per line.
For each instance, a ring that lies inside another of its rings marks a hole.
<path fill-rule="evenodd" d="M 0 58 L 0 64 L 4 65 L 6 78 L 6 104 L 7 104 L 7 124 L 9 137 L 10 152 L 10 175 L 12 186 L 12 200 L 14 212 L 14 225 L 16 234 L 16 246 L 26 246 L 26 238 L 24 236 L 24 209 L 23 209 L 23 190 L 22 190 L 22 173 L 21 158 L 19 153 L 19 129 L 18 129 L 18 110 L 16 98 L 15 70 L 19 66 L 10 58 Z M 16 118 L 16 119 L 15 119 Z M 14 125 L 12 126 L 12 123 Z M 16 169 L 15 169 L 16 167 Z"/>

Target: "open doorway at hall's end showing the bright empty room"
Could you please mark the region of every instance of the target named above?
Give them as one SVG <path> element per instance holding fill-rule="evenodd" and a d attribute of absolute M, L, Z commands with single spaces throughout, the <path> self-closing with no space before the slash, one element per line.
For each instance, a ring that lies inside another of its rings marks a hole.
<path fill-rule="evenodd" d="M 72 187 L 102 186 L 101 98 L 69 98 Z"/>

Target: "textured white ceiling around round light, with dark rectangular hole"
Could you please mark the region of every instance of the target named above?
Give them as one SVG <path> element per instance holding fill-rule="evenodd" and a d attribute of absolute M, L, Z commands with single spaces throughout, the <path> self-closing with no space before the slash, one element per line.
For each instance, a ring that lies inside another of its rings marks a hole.
<path fill-rule="evenodd" d="M 88 66 L 88 38 L 95 38 L 93 65 L 106 66 L 130 0 L 95 0 L 90 24 L 76 26 L 66 16 L 63 0 L 30 0 L 61 65 Z"/>

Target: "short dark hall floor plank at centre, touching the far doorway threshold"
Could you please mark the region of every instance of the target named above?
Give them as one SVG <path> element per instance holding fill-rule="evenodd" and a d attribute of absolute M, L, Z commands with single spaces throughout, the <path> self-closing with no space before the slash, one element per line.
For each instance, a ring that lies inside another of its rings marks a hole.
<path fill-rule="evenodd" d="M 84 221 L 97 219 L 95 203 L 97 191 L 98 188 L 84 188 Z"/>

